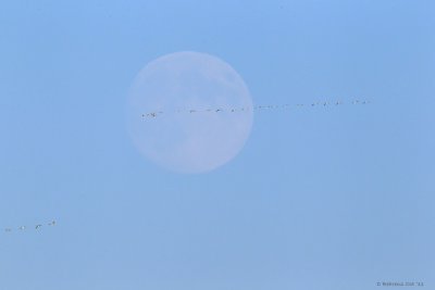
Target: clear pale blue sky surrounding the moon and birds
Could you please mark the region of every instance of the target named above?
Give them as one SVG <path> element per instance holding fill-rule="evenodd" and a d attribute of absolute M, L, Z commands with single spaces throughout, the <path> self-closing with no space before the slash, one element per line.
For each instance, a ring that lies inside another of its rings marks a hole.
<path fill-rule="evenodd" d="M 435 287 L 435 2 L 7 1 L 0 9 L 0 289 Z M 128 87 L 213 54 L 256 104 L 208 174 L 145 160 Z M 41 230 L 5 227 L 47 224 Z"/>

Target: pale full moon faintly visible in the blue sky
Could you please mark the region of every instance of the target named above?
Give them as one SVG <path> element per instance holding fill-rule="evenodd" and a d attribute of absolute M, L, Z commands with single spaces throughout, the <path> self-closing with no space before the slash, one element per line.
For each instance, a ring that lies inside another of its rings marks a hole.
<path fill-rule="evenodd" d="M 151 61 L 133 80 L 127 128 L 138 151 L 159 166 L 204 173 L 243 149 L 251 109 L 248 87 L 229 64 L 206 53 L 175 52 Z"/>

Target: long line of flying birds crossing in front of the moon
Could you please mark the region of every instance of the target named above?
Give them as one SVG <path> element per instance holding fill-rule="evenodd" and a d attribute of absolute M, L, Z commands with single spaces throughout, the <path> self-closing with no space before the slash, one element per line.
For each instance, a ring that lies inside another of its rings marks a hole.
<path fill-rule="evenodd" d="M 353 100 L 349 102 L 350 104 L 368 104 L 370 103 L 366 100 Z M 254 105 L 254 106 L 243 106 L 243 108 L 231 108 L 231 109 L 224 109 L 224 108 L 214 108 L 214 109 L 204 109 L 204 110 L 198 110 L 198 109 L 188 109 L 188 110 L 176 110 L 175 113 L 188 113 L 188 114 L 195 114 L 195 113 L 222 113 L 222 112 L 229 112 L 229 113 L 236 113 L 236 112 L 249 112 L 249 111 L 261 111 L 261 110 L 284 110 L 284 109 L 290 109 L 290 108 L 312 108 L 312 106 L 328 106 L 328 105 L 343 105 L 346 104 L 343 101 L 334 101 L 334 102 L 313 102 L 309 104 L 303 104 L 303 103 L 297 103 L 294 105 L 290 104 L 279 104 L 279 105 Z M 162 111 L 154 111 L 154 112 L 149 112 L 142 114 L 144 118 L 156 118 L 160 115 L 162 115 L 164 112 Z"/>

